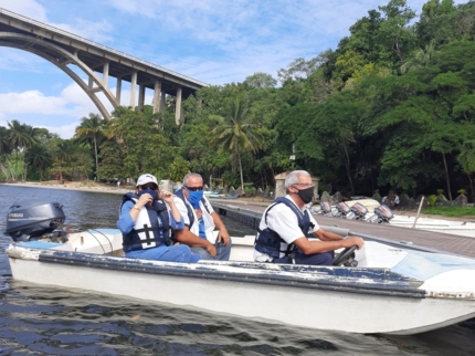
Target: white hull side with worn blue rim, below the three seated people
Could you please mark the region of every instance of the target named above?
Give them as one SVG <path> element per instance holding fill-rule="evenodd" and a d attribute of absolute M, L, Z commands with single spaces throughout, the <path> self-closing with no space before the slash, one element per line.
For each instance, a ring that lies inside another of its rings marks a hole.
<path fill-rule="evenodd" d="M 390 271 L 246 262 L 140 261 L 11 245 L 15 280 L 267 323 L 410 335 L 475 316 L 469 297 L 428 297 L 422 281 Z"/>

